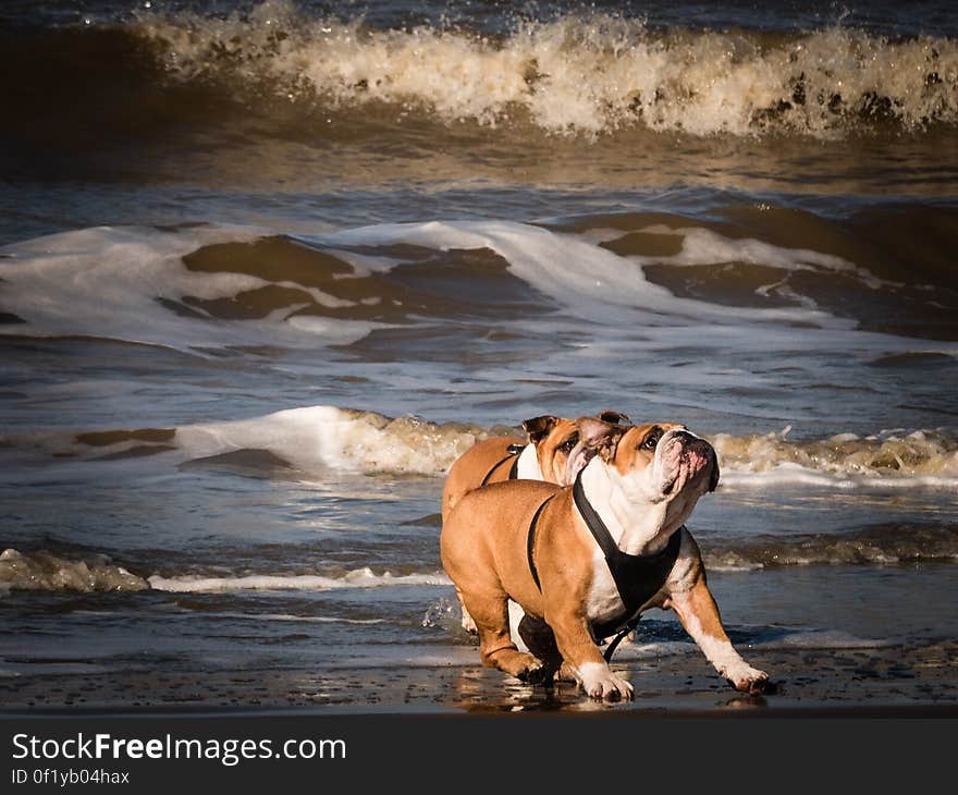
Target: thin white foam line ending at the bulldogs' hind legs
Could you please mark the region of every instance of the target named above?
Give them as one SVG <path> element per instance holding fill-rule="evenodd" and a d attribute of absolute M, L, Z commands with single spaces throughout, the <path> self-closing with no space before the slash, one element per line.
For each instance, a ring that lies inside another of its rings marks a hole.
<path fill-rule="evenodd" d="M 342 590 L 347 588 L 382 588 L 409 585 L 450 585 L 442 573 L 434 574 L 374 574 L 369 567 L 357 568 L 339 577 L 314 574 L 270 575 L 249 574 L 240 577 L 161 577 L 148 579 L 150 587 L 177 594 L 202 594 L 236 590 Z"/>

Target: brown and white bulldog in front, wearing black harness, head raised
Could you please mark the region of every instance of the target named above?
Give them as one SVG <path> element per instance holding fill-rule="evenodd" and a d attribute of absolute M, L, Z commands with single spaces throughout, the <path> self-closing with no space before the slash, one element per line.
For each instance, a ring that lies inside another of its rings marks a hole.
<path fill-rule="evenodd" d="M 531 683 L 561 671 L 591 697 L 631 698 L 597 639 L 672 608 L 721 676 L 762 692 L 767 675 L 728 640 L 684 526 L 717 486 L 715 451 L 680 425 L 576 426 L 594 456 L 573 486 L 494 484 L 464 496 L 443 523 L 443 566 L 476 622 L 482 663 Z M 511 636 L 511 599 L 527 615 L 529 652 Z"/>

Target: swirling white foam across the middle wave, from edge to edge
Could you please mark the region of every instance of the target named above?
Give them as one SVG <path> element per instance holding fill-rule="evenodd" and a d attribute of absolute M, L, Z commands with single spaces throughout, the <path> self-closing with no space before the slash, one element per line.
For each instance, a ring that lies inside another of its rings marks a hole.
<path fill-rule="evenodd" d="M 576 234 L 495 220 L 296 236 L 213 225 L 62 233 L 0 249 L 0 333 L 109 339 L 201 356 L 345 346 L 376 360 L 377 340 L 391 339 L 378 332 L 425 333 L 452 318 L 487 339 L 490 329 L 558 337 L 570 317 L 595 325 L 581 343 L 594 354 L 626 343 L 631 355 L 684 345 L 708 351 L 716 341 L 766 352 L 809 347 L 814 335 L 820 351 L 955 355 L 947 343 L 916 348 L 912 340 L 859 330 L 858 320 L 823 309 L 818 295 L 801 292 L 800 279 L 791 280 L 811 272 L 820 290 L 837 274 L 851 280 L 843 289 L 856 299 L 880 289 L 891 297 L 901 286 L 853 261 L 723 236 L 681 217 L 668 228 L 631 220 L 639 227 L 628 237 L 671 237 L 677 253 L 653 256 L 626 246 L 619 254 L 597 230 Z M 681 295 L 646 273 L 729 264 L 767 279 L 754 285 L 748 305 Z M 926 285 L 914 290 L 928 299 Z M 862 320 L 868 328 L 869 318 Z M 370 354 L 363 344 L 372 346 Z M 344 369 L 337 358 L 326 367 Z"/>

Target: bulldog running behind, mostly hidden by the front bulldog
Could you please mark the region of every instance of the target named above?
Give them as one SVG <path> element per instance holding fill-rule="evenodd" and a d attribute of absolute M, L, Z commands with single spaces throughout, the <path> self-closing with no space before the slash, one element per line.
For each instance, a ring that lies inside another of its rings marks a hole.
<path fill-rule="evenodd" d="M 597 415 L 605 423 L 628 423 L 614 411 Z M 442 490 L 442 522 L 465 494 L 503 480 L 545 480 L 565 486 L 573 482 L 591 451 L 581 443 L 576 421 L 551 414 L 523 423 L 526 439 L 495 437 L 477 442 L 453 463 Z M 462 599 L 459 599 L 462 604 Z M 463 628 L 475 633 L 476 624 L 463 606 Z"/>

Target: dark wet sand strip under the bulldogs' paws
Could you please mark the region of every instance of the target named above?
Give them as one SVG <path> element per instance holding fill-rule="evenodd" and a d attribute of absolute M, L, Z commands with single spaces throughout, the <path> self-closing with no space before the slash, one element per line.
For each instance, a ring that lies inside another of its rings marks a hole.
<path fill-rule="evenodd" d="M 0 680 L 0 710 L 19 714 L 192 712 L 626 711 L 679 717 L 734 710 L 776 717 L 958 717 L 958 641 L 880 649 L 751 650 L 775 689 L 736 693 L 693 655 L 614 662 L 636 688 L 631 702 L 602 704 L 568 684 L 531 687 L 480 665 L 304 670 L 45 672 Z"/>

